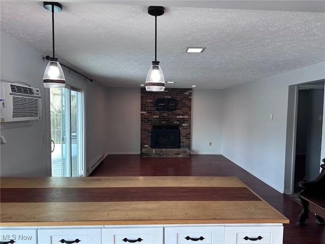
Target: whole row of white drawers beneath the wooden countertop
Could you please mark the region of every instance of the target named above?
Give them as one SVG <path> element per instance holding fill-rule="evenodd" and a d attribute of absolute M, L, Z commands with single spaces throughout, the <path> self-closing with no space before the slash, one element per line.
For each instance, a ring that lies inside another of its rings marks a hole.
<path fill-rule="evenodd" d="M 282 244 L 282 224 L 1 227 L 0 244 Z"/>

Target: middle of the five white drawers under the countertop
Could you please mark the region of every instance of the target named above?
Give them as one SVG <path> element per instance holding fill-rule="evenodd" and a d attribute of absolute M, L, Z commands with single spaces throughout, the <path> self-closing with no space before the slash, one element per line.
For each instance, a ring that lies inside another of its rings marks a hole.
<path fill-rule="evenodd" d="M 160 244 L 163 242 L 163 227 L 108 227 L 102 229 L 102 244 Z"/>

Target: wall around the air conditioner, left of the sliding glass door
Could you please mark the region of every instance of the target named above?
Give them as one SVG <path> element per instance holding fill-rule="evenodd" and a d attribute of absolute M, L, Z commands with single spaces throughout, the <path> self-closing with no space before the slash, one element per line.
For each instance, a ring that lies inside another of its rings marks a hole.
<path fill-rule="evenodd" d="M 20 81 L 41 90 L 44 108 L 43 75 L 47 62 L 42 52 L 1 32 L 1 78 Z M 25 125 L 25 122 L 18 123 Z M 1 145 L 1 176 L 46 176 L 45 119 L 30 126 L 1 129 L 7 144 Z"/>

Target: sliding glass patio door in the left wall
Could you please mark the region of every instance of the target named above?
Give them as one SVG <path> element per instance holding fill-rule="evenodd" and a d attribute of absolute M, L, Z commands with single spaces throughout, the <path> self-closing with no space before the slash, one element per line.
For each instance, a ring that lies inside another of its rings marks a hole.
<path fill-rule="evenodd" d="M 74 88 L 50 88 L 52 177 L 84 176 L 84 96 Z"/>

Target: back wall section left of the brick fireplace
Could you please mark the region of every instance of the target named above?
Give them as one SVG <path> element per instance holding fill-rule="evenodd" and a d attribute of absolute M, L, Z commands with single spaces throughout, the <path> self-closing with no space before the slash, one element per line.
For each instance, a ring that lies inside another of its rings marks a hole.
<path fill-rule="evenodd" d="M 107 88 L 109 154 L 140 154 L 141 88 Z"/>

